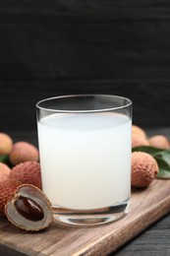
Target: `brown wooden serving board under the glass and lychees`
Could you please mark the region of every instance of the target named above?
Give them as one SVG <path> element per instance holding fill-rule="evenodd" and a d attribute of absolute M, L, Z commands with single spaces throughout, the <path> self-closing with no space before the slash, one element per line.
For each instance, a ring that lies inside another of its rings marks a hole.
<path fill-rule="evenodd" d="M 130 213 L 112 224 L 75 228 L 52 223 L 31 233 L 0 220 L 0 252 L 5 248 L 6 253 L 14 249 L 28 255 L 107 255 L 169 212 L 170 180 L 155 180 L 132 192 Z"/>

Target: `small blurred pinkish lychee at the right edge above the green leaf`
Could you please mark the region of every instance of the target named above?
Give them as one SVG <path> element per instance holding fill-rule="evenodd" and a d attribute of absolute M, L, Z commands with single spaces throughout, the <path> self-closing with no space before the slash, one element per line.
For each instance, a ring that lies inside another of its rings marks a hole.
<path fill-rule="evenodd" d="M 154 135 L 148 139 L 149 145 L 154 148 L 169 150 L 170 143 L 166 136 L 164 135 Z"/>

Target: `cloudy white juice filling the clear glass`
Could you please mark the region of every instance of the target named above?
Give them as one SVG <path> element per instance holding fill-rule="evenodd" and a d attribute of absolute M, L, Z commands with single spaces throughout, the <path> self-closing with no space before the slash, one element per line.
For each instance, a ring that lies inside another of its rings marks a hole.
<path fill-rule="evenodd" d="M 38 122 L 42 186 L 53 206 L 86 210 L 130 196 L 131 120 L 121 114 L 51 114 Z"/>

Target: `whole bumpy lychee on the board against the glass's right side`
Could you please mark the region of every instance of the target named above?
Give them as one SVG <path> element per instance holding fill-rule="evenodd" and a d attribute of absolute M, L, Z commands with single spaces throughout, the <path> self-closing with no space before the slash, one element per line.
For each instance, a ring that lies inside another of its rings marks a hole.
<path fill-rule="evenodd" d="M 132 153 L 132 186 L 147 187 L 156 177 L 159 168 L 156 160 L 144 152 Z"/>

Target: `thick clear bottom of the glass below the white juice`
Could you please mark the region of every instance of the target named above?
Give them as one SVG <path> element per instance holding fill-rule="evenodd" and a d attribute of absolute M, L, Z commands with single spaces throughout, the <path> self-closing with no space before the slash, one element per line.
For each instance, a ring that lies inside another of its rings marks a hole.
<path fill-rule="evenodd" d="M 71 210 L 53 207 L 54 221 L 59 224 L 74 226 L 93 226 L 115 222 L 128 214 L 130 200 L 126 200 L 110 207 L 95 210 Z"/>

